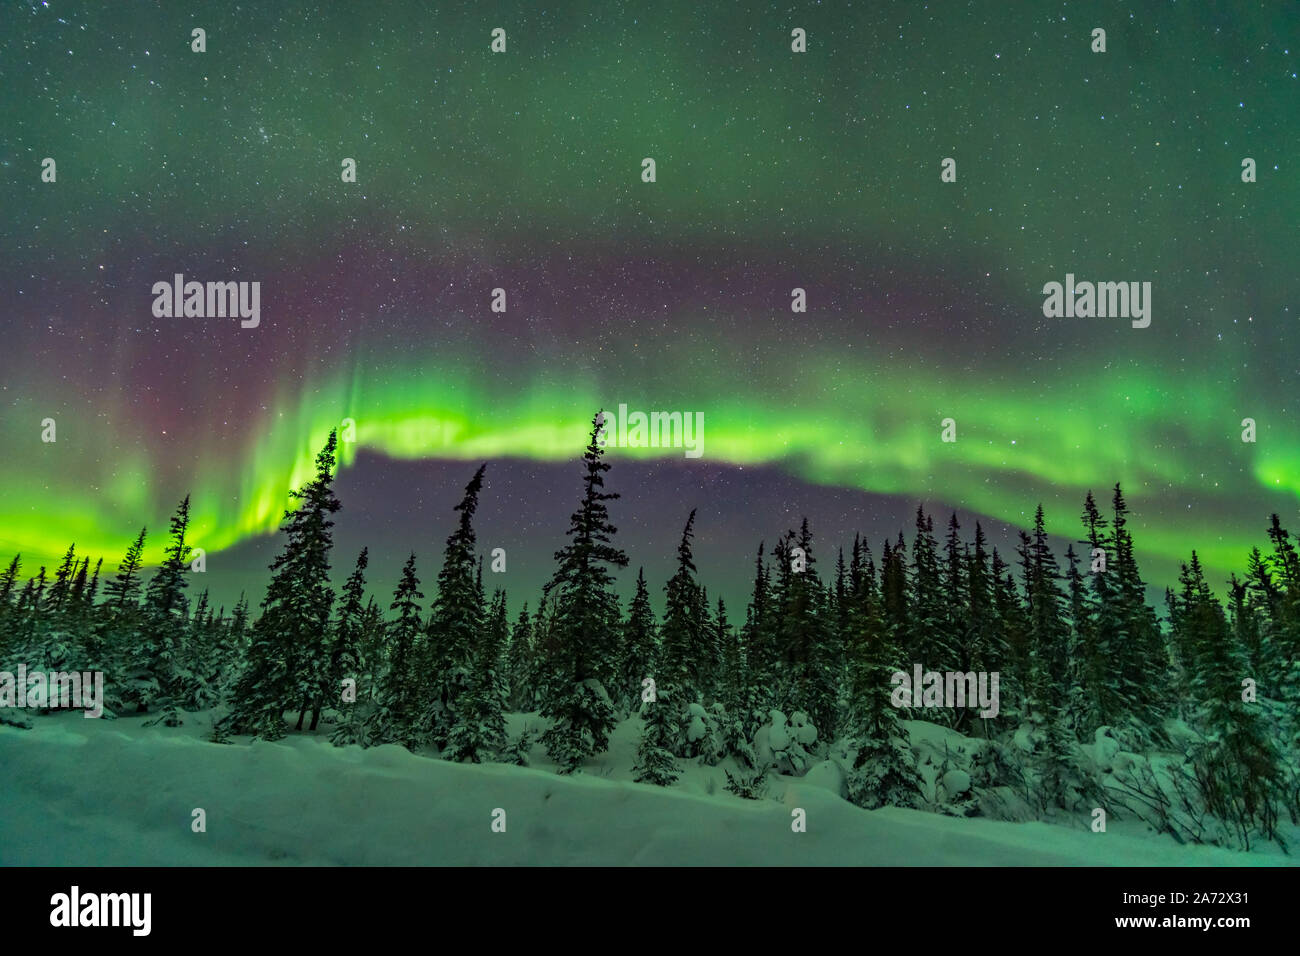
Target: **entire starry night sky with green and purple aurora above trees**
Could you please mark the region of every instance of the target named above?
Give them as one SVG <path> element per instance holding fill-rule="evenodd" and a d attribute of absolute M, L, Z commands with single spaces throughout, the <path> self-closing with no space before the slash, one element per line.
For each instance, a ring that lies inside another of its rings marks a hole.
<path fill-rule="evenodd" d="M 488 460 L 529 597 L 627 403 L 705 415 L 698 459 L 608 453 L 628 581 L 692 507 L 740 602 L 805 514 L 823 563 L 918 503 L 1009 541 L 1041 502 L 1063 549 L 1119 481 L 1148 579 L 1219 585 L 1300 529 L 1297 53 L 1271 1 L 6 4 L 0 551 L 156 558 L 192 493 L 257 589 L 351 418 L 341 576 L 432 580 Z M 176 273 L 259 281 L 260 326 L 156 319 Z M 1044 317 L 1066 273 L 1149 281 L 1150 326 Z"/>

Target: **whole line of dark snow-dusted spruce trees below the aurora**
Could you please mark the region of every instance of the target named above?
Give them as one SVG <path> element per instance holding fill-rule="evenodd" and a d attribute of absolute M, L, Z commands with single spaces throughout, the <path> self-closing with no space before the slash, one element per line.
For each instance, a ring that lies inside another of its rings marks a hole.
<path fill-rule="evenodd" d="M 620 606 L 615 572 L 628 557 L 615 544 L 608 502 L 619 496 L 606 490 L 599 428 L 597 415 L 554 574 L 514 622 L 506 592 L 488 596 L 476 546 L 486 466 L 455 507 L 432 600 L 413 553 L 386 607 L 368 594 L 367 549 L 335 589 L 332 432 L 315 476 L 290 493 L 256 619 L 243 597 L 229 614 L 207 591 L 191 604 L 186 497 L 147 583 L 146 529 L 103 585 L 103 559 L 91 570 L 75 546 L 52 578 L 40 567 L 26 581 L 14 555 L 0 574 L 0 661 L 101 670 L 117 714 L 176 724 L 183 711 L 218 708 L 217 741 L 280 739 L 290 722 L 315 731 L 328 715 L 341 745 L 523 763 L 532 735 L 511 739 L 504 715 L 536 711 L 560 773 L 604 752 L 615 726 L 640 715 L 638 780 L 667 786 L 681 761 L 731 758 L 728 788 L 750 797 L 780 749 L 774 721 L 790 715 L 800 741 L 788 750 L 833 754 L 846 796 L 866 808 L 922 804 L 907 719 L 988 741 L 975 782 L 1023 792 L 1044 817 L 1114 800 L 1082 750 L 1105 736 L 1126 750 L 1183 752 L 1160 779 L 1149 771 L 1124 791 L 1126 806 L 1145 808 L 1139 816 L 1179 839 L 1213 842 L 1208 816 L 1216 832 L 1248 845 L 1258 834 L 1279 839 L 1279 813 L 1300 817 L 1300 554 L 1277 515 L 1269 551 L 1251 551 L 1226 602 L 1192 551 L 1166 592 L 1166 620 L 1147 602 L 1119 485 L 1105 514 L 1087 496 L 1083 551 L 1070 545 L 1063 566 L 1041 506 L 1006 557 L 979 523 L 963 538 L 956 514 L 940 538 L 918 507 L 910 542 L 900 531 L 878 559 L 855 536 L 829 563 L 805 520 L 770 550 L 758 545 L 744 620 L 733 623 L 694 564 L 692 511 L 659 618 L 644 571 Z M 915 663 L 998 672 L 997 717 L 896 706 L 892 675 Z M 1011 745 L 1017 734 L 1028 748 Z M 974 812 L 972 799 L 958 805 Z"/>

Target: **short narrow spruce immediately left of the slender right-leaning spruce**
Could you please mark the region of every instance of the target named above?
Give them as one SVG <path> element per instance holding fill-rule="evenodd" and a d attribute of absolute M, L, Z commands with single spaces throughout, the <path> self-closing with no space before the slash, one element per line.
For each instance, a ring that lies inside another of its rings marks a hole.
<path fill-rule="evenodd" d="M 420 579 L 415 574 L 415 553 L 402 566 L 402 578 L 393 592 L 389 610 L 396 617 L 387 622 L 387 667 L 384 671 L 378 706 L 372 726 L 364 730 L 368 740 L 378 744 L 402 744 L 407 749 L 419 747 L 416 718 L 420 711 L 420 682 L 416 676 L 421 658 L 421 611 L 424 597 Z"/>

